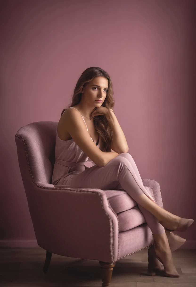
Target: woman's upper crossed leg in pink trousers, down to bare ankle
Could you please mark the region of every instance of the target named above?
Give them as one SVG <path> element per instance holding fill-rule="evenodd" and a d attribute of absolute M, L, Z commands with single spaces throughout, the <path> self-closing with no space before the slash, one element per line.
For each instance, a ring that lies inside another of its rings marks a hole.
<path fill-rule="evenodd" d="M 70 177 L 66 177 L 65 181 L 61 184 L 81 188 L 99 188 L 103 190 L 115 189 L 115 187 L 120 184 L 141 207 L 152 213 L 158 220 L 167 220 L 168 223 L 176 223 L 178 226 L 177 219 L 179 218 L 180 220 L 180 217 L 171 214 L 155 203 L 152 195 L 148 193 L 136 176 L 137 171 L 135 172 L 132 164 L 125 155 L 130 157 L 128 153 L 119 154 L 105 166 L 92 166 L 80 174 L 73 174 L 70 175 Z M 157 223 L 155 222 L 155 224 Z"/>

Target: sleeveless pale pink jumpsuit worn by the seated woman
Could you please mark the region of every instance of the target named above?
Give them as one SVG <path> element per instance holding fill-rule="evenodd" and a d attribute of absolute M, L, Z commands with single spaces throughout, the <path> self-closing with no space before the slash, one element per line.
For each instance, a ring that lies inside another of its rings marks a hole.
<path fill-rule="evenodd" d="M 83 118 L 82 115 L 81 117 Z M 100 138 L 96 146 L 101 150 Z M 118 190 L 125 190 L 138 203 L 138 207 L 152 233 L 165 233 L 165 228 L 158 223 L 157 218 L 140 205 L 141 199 L 139 195 L 141 194 L 145 193 L 152 201 L 154 199 L 148 187 L 144 187 L 136 163 L 128 152 L 119 154 L 105 166 L 101 167 L 92 161 L 94 165 L 87 167 L 85 166 L 87 161 L 88 156 L 79 148 L 75 141 L 73 139 L 66 141 L 60 139 L 56 130 L 55 164 L 52 174 L 52 184 L 81 188 L 99 188 L 102 190 L 111 190 L 118 187 Z"/>

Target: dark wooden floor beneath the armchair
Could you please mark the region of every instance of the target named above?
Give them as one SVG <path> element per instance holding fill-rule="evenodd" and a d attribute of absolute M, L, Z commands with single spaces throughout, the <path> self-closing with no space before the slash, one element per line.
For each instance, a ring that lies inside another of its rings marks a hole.
<path fill-rule="evenodd" d="M 143 249 L 116 262 L 110 287 L 196 287 L 196 250 L 173 252 L 178 278 L 164 271 L 148 276 L 148 255 Z M 0 248 L 0 286 L 3 287 L 101 287 L 97 260 L 82 260 L 52 254 L 48 272 L 42 271 L 46 251 L 42 248 Z M 164 267 L 162 265 L 164 270 Z"/>

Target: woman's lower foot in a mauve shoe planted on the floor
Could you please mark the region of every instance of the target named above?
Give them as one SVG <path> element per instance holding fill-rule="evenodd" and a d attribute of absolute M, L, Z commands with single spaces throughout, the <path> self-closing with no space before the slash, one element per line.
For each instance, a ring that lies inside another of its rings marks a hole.
<path fill-rule="evenodd" d="M 156 242 L 155 244 L 155 252 L 158 257 L 158 260 L 163 264 L 165 269 L 165 276 L 166 277 L 179 277 L 179 274 L 174 266 L 174 261 L 172 257 L 171 250 L 169 245 L 166 244 L 165 246 L 160 246 Z"/>

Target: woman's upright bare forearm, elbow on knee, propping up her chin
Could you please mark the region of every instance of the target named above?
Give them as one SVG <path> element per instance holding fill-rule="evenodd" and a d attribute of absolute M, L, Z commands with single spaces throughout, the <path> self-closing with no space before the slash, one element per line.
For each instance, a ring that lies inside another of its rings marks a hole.
<path fill-rule="evenodd" d="M 125 138 L 125 135 L 121 129 L 121 126 L 113 112 L 113 110 L 110 108 L 110 113 L 112 116 L 112 120 L 110 122 L 111 128 L 113 131 L 113 139 L 111 143 L 111 149 L 118 154 L 122 154 L 124 152 L 128 152 L 129 147 Z"/>

